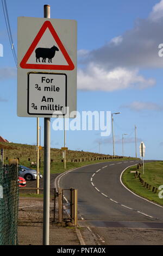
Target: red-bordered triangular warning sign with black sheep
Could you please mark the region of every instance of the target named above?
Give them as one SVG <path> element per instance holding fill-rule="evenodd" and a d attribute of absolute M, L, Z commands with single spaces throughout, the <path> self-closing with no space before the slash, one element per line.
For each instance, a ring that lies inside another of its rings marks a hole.
<path fill-rule="evenodd" d="M 20 66 L 22 69 L 74 69 L 74 64 L 50 21 L 43 23 Z"/>

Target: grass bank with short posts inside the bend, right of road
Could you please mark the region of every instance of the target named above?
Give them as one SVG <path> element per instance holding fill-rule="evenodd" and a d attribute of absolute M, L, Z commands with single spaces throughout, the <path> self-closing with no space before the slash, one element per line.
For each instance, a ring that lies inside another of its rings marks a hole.
<path fill-rule="evenodd" d="M 152 187 L 159 188 L 160 185 L 163 185 L 163 161 L 156 161 L 145 163 L 145 173 L 142 173 L 142 167 L 139 169 L 141 173 L 141 178 L 146 181 Z M 138 194 L 141 197 L 144 197 L 152 202 L 163 205 L 163 199 L 159 198 L 158 193 L 153 193 L 152 190 L 148 190 L 143 187 L 139 178 L 135 178 L 134 173 L 131 171 L 136 171 L 137 166 L 128 168 L 122 175 L 123 184 L 126 185 L 131 191 Z"/>

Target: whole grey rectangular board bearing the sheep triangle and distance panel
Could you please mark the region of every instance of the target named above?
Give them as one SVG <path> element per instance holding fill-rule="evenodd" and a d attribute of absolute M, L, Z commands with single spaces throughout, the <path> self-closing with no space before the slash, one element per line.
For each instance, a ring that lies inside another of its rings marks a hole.
<path fill-rule="evenodd" d="M 18 17 L 17 27 L 17 115 L 62 117 L 66 107 L 76 111 L 77 22 Z"/>

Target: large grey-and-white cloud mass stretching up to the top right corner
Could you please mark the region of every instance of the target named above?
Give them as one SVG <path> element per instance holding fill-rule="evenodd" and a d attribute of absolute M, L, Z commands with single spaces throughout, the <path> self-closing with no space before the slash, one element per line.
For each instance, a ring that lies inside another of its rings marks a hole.
<path fill-rule="evenodd" d="M 158 54 L 162 27 L 163 0 L 154 5 L 147 19 L 137 19 L 133 29 L 95 50 L 79 50 L 78 61 L 84 68 L 78 70 L 78 89 L 111 92 L 154 86 L 154 78 L 145 78 L 139 70 L 163 68 L 163 57 Z"/>

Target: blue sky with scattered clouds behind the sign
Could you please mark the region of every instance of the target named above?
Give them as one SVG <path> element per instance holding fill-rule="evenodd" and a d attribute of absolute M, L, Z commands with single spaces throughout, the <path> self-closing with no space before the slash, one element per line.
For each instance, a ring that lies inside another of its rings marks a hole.
<path fill-rule="evenodd" d="M 43 5 L 51 5 L 51 18 L 78 22 L 77 110 L 121 112 L 114 115 L 115 152 L 135 156 L 141 140 L 146 159 L 162 160 L 162 68 L 158 46 L 163 43 L 163 1 L 11 1 L 7 0 L 11 32 L 17 49 L 17 17 L 43 17 Z M 36 143 L 36 118 L 16 114 L 17 80 L 1 4 L 0 135 L 15 143 Z M 53 119 L 52 119 L 53 121 Z M 43 118 L 40 118 L 43 145 Z M 51 129 L 53 148 L 63 147 L 64 133 Z M 100 131 L 67 131 L 67 147 L 112 154 L 112 137 Z"/>

